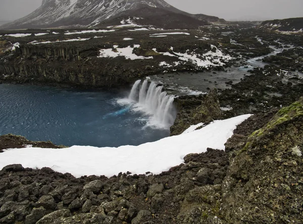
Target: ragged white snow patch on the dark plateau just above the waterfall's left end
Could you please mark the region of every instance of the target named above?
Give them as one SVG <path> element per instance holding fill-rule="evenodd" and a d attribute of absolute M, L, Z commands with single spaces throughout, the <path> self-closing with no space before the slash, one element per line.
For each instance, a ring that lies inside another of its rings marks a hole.
<path fill-rule="evenodd" d="M 114 46 L 114 50 L 112 48 L 108 49 L 100 49 L 100 55 L 98 58 L 116 58 L 119 56 L 125 57 L 125 59 L 136 60 L 136 59 L 153 59 L 153 56 L 143 57 L 138 56 L 133 53 L 133 49 L 135 47 L 140 47 L 140 45 L 135 44 L 134 47 L 128 46 L 123 48 L 118 48 L 117 45 Z"/>

